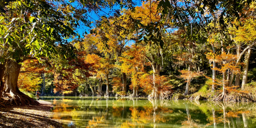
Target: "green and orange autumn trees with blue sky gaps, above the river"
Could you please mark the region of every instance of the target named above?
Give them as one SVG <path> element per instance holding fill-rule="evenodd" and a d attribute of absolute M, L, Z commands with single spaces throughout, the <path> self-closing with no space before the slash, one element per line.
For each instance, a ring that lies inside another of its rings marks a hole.
<path fill-rule="evenodd" d="M 37 105 L 27 96 L 37 89 L 41 96 L 255 101 L 254 0 L 136 5 L 1 1 L 1 105 Z"/>

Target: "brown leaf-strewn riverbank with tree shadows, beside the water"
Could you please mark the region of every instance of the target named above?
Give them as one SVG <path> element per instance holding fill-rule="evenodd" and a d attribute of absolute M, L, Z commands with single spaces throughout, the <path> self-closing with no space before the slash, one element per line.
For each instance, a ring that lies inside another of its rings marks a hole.
<path fill-rule="evenodd" d="M 0 128 L 63 128 L 61 120 L 51 119 L 50 102 L 40 105 L 11 105 L 0 108 Z"/>

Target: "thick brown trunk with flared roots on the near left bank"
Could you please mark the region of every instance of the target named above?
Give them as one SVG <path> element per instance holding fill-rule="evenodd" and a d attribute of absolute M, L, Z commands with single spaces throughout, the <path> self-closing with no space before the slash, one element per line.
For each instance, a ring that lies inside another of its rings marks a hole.
<path fill-rule="evenodd" d="M 39 102 L 26 96 L 18 89 L 17 81 L 21 65 L 17 61 L 9 60 L 6 63 L 5 87 L 3 95 L 16 105 L 39 105 Z"/>

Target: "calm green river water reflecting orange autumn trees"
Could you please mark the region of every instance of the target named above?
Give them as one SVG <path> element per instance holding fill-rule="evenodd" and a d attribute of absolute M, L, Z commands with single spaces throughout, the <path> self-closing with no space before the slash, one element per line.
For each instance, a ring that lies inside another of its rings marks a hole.
<path fill-rule="evenodd" d="M 44 96 L 65 128 L 256 128 L 256 104 Z"/>

